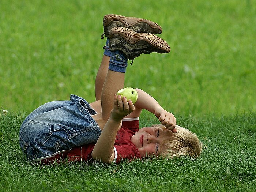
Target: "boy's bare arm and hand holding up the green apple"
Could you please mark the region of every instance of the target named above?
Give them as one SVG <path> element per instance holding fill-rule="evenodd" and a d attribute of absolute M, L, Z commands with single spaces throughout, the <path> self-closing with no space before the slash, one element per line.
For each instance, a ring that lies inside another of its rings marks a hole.
<path fill-rule="evenodd" d="M 127 101 L 121 95 L 114 95 L 114 107 L 110 117 L 97 140 L 92 157 L 103 163 L 111 163 L 114 160 L 114 143 L 117 131 L 121 128 L 121 121 L 135 109 L 131 100 Z"/>

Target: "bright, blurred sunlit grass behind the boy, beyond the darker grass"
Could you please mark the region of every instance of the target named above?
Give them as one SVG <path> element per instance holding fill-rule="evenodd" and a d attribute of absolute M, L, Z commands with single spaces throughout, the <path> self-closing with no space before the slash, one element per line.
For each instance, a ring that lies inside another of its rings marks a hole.
<path fill-rule="evenodd" d="M 255 111 L 255 5 L 255 0 L 1 0 L 0 106 L 31 112 L 71 93 L 94 101 L 105 45 L 102 18 L 117 13 L 159 23 L 159 36 L 172 49 L 135 59 L 125 86 L 146 90 L 174 114 Z"/>

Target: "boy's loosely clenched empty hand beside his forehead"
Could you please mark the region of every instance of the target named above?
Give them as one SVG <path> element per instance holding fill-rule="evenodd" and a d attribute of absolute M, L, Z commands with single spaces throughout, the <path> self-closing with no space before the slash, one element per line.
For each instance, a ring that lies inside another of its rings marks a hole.
<path fill-rule="evenodd" d="M 167 112 L 163 108 L 155 110 L 155 116 L 159 119 L 162 125 L 174 133 L 177 133 L 176 118 L 170 112 Z"/>

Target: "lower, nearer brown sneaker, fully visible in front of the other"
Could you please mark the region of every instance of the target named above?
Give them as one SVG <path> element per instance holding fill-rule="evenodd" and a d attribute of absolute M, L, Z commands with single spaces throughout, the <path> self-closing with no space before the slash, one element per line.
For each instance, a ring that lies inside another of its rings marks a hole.
<path fill-rule="evenodd" d="M 139 57 L 142 53 L 170 52 L 170 46 L 160 37 L 148 33 L 137 33 L 124 27 L 114 27 L 109 31 L 109 48 L 111 51 L 120 50 L 129 60 Z"/>

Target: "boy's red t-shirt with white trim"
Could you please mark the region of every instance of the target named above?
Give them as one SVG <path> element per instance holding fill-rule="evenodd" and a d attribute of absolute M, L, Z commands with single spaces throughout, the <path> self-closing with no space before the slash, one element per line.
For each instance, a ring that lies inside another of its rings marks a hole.
<path fill-rule="evenodd" d="M 128 119 L 127 119 L 128 120 Z M 139 130 L 139 120 L 126 121 L 122 123 L 121 129 L 117 132 L 116 140 L 114 144 L 115 159 L 114 162 L 120 163 L 122 159 L 132 160 L 135 158 L 141 158 L 138 149 L 131 142 L 131 137 Z M 65 150 L 54 154 L 53 157 L 42 159 L 44 163 L 53 163 L 56 160 L 61 161 L 63 158 L 67 158 L 68 162 L 72 161 L 86 161 L 91 162 L 94 159 L 91 157 L 91 153 L 95 146 L 95 143 L 89 143 L 79 147 L 73 147 L 71 150 Z"/>

